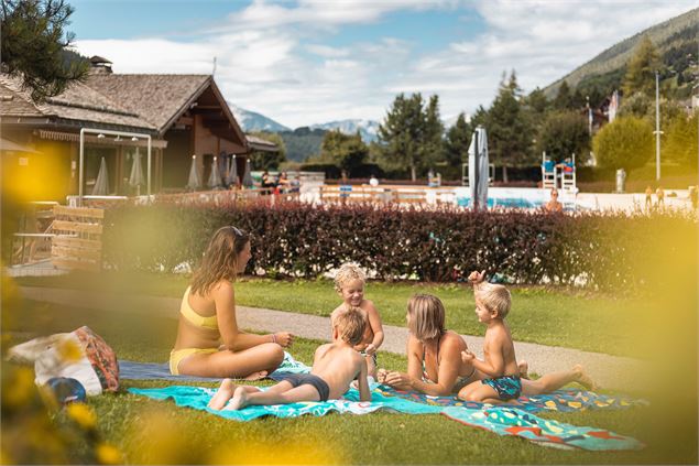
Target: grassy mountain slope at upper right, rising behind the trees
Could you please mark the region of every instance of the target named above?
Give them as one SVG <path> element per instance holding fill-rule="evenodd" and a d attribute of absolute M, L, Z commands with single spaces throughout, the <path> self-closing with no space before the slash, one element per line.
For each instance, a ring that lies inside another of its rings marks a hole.
<path fill-rule="evenodd" d="M 688 78 L 691 75 L 692 56 L 695 63 L 697 61 L 697 36 L 699 35 L 697 18 L 699 18 L 699 8 L 625 39 L 548 85 L 544 88 L 544 94 L 549 99 L 554 98 L 564 80 L 572 89 L 597 87 L 603 94 L 611 94 L 614 88 L 619 88 L 626 71 L 626 63 L 633 56 L 636 45 L 644 35 L 647 35 L 658 50 L 663 63 L 671 69 L 665 77 L 675 79 L 674 88 L 679 90 L 677 97 L 687 98 L 691 93 L 691 83 Z"/>

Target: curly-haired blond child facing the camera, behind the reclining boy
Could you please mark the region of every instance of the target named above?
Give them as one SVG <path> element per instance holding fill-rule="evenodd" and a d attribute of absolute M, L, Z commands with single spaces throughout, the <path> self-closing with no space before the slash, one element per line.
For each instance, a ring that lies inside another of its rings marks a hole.
<path fill-rule="evenodd" d="M 359 267 L 352 263 L 342 264 L 335 277 L 335 291 L 342 299 L 342 304 L 332 311 L 332 315 L 351 306 L 359 307 L 367 313 L 367 328 L 354 349 L 367 357 L 369 381 L 373 382 L 376 378 L 376 350 L 383 343 L 383 325 L 381 325 L 381 317 L 374 303 L 364 300 L 365 282 L 367 277 Z"/>

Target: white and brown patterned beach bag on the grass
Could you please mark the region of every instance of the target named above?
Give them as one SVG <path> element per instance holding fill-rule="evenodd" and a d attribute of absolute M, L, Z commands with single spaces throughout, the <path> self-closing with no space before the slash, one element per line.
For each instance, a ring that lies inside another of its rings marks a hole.
<path fill-rule="evenodd" d="M 119 390 L 117 355 L 87 326 L 17 345 L 10 348 L 9 359 L 34 364 L 39 386 L 65 377 L 79 381 L 90 397 Z"/>

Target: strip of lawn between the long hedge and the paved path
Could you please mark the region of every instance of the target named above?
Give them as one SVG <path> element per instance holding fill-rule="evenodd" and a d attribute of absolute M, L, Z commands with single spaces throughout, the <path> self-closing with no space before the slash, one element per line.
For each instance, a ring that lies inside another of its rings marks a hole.
<path fill-rule="evenodd" d="M 114 293 L 181 297 L 187 279 L 167 274 L 70 274 L 23 278 L 30 286 L 84 288 Z M 365 296 L 376 304 L 385 324 L 404 326 L 407 299 L 433 293 L 447 310 L 447 327 L 467 335 L 483 335 L 474 316 L 473 294 L 466 285 L 369 282 Z M 236 283 L 237 303 L 253 307 L 329 316 L 339 299 L 329 280 L 276 281 L 242 279 Z M 565 346 L 622 356 L 644 356 L 657 305 L 647 299 L 616 297 L 569 289 L 512 288 L 513 310 L 507 316 L 516 342 Z M 171 333 L 174 335 L 174 333 Z"/>

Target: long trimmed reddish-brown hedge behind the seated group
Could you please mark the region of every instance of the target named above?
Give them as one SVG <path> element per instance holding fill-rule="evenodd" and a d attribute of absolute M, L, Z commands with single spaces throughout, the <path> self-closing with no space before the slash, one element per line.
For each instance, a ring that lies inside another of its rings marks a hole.
<path fill-rule="evenodd" d="M 119 270 L 196 267 L 223 225 L 252 232 L 248 270 L 275 278 L 316 278 L 353 261 L 383 280 L 447 282 L 485 269 L 511 283 L 635 286 L 688 254 L 696 269 L 697 257 L 696 218 L 679 214 L 155 204 L 116 207 L 106 221 L 105 263 Z"/>

